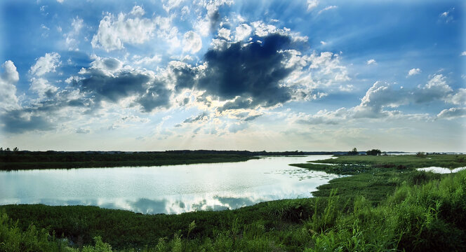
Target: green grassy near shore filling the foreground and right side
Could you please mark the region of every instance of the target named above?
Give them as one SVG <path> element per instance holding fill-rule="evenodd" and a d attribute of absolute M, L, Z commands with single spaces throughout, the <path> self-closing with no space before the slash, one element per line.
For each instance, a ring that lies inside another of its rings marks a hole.
<path fill-rule="evenodd" d="M 142 215 L 1 207 L 0 251 L 466 251 L 465 155 L 341 156 L 295 165 L 349 176 L 317 197 L 227 211 Z M 346 164 L 346 165 L 342 165 Z"/>

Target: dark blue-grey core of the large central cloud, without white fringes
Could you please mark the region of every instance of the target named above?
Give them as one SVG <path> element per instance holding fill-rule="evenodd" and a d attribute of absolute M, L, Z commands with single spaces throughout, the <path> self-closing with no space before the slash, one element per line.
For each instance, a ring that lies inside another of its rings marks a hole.
<path fill-rule="evenodd" d="M 291 99 L 289 88 L 279 85 L 293 71 L 283 64 L 287 58 L 283 50 L 293 47 L 291 38 L 270 34 L 258 39 L 262 42 L 232 43 L 204 55 L 207 68 L 197 89 L 222 100 L 240 97 L 222 110 L 274 106 Z"/>

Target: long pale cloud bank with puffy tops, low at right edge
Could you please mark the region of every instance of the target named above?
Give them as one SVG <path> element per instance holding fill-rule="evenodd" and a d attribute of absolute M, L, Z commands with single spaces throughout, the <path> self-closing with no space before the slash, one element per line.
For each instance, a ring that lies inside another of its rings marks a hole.
<path fill-rule="evenodd" d="M 455 99 L 452 97 L 455 97 Z M 306 125 L 336 125 L 361 118 L 399 118 L 401 120 L 451 119 L 465 116 L 465 108 L 445 109 L 435 117 L 428 114 L 404 114 L 401 111 L 394 110 L 394 108 L 407 104 L 425 104 L 434 101 L 466 104 L 465 99 L 465 89 L 460 89 L 454 93 L 451 87 L 446 84 L 446 77 L 437 74 L 432 76 L 425 85 L 415 87 L 411 90 L 404 88 L 396 89 L 389 83 L 377 81 L 367 90 L 358 106 L 350 109 L 341 108 L 336 111 L 322 110 L 314 115 L 300 113 L 297 116 L 291 116 L 291 119 L 295 123 Z"/>

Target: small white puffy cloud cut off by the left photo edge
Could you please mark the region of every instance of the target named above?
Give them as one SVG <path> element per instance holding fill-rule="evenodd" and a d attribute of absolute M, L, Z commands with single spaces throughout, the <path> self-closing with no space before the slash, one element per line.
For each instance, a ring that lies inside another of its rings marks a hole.
<path fill-rule="evenodd" d="M 16 66 L 11 60 L 4 62 L 1 68 L 4 71 L 0 74 L 0 112 L 2 109 L 10 110 L 18 107 L 15 83 L 20 80 Z"/>

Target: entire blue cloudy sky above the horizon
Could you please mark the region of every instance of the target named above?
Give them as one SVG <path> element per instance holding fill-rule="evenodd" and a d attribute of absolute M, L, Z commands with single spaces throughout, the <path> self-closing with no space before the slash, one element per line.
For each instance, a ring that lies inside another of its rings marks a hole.
<path fill-rule="evenodd" d="M 0 146 L 466 152 L 464 1 L 0 3 Z"/>

